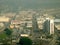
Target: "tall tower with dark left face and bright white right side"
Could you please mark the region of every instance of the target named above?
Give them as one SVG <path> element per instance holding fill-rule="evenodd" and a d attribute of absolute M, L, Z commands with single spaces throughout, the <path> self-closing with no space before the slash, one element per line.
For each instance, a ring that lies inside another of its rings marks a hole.
<path fill-rule="evenodd" d="M 44 22 L 44 32 L 54 34 L 54 20 L 47 18 Z"/>

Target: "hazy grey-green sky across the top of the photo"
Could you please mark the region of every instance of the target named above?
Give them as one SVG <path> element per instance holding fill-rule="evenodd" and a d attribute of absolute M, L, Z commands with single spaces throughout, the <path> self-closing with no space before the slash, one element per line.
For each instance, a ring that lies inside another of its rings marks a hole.
<path fill-rule="evenodd" d="M 25 8 L 60 8 L 60 0 L 0 0 L 0 3 Z"/>

